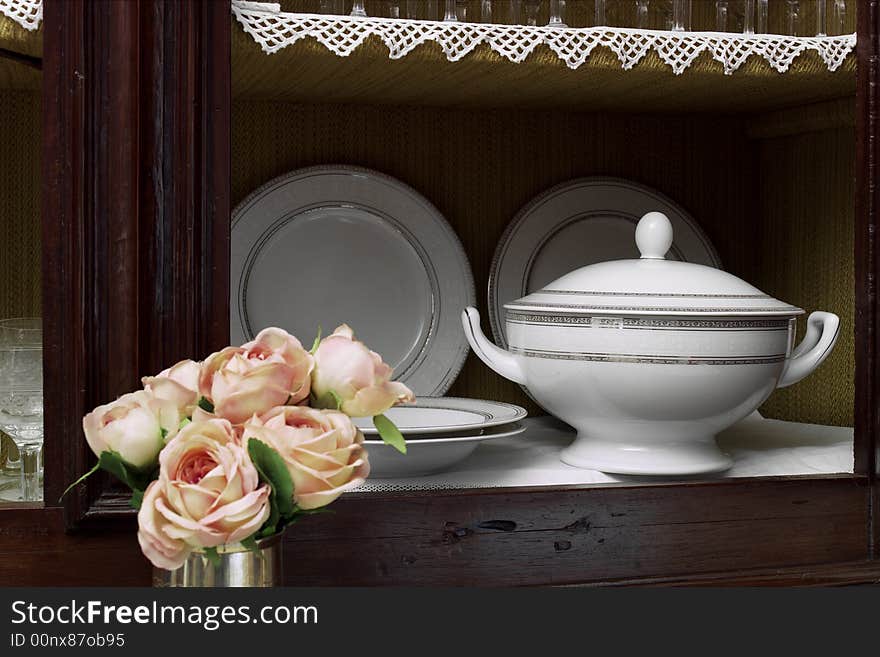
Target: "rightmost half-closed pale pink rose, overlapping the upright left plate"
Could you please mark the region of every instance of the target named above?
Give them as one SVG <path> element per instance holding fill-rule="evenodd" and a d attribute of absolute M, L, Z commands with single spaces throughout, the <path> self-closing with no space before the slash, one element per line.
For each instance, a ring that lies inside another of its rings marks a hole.
<path fill-rule="evenodd" d="M 318 345 L 312 393 L 325 407 L 335 398 L 351 417 L 381 415 L 398 402 L 415 401 L 409 388 L 391 381 L 391 373 L 382 357 L 343 324 Z"/>

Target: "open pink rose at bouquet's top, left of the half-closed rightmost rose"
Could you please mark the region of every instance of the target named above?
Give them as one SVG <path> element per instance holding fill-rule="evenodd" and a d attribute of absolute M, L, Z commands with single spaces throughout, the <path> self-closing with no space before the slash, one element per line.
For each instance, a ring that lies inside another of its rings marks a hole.
<path fill-rule="evenodd" d="M 299 340 L 278 328 L 260 331 L 241 347 L 226 347 L 202 364 L 199 391 L 214 412 L 233 424 L 275 406 L 309 396 L 312 355 Z"/>

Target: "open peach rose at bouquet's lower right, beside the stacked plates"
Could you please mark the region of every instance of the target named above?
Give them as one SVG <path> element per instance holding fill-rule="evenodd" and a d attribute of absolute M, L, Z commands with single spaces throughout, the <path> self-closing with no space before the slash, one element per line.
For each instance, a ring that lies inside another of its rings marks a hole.
<path fill-rule="evenodd" d="M 364 436 L 344 413 L 281 406 L 252 418 L 244 441 L 256 438 L 284 459 L 302 509 L 326 506 L 370 474 Z"/>

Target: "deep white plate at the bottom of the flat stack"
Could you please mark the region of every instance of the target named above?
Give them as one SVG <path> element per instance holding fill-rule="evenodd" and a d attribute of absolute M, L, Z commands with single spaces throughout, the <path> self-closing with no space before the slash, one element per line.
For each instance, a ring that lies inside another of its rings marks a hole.
<path fill-rule="evenodd" d="M 470 456 L 481 442 L 515 436 L 525 430 L 522 422 L 514 422 L 491 427 L 475 436 L 429 434 L 408 438 L 406 454 L 379 439 L 368 439 L 364 444 L 370 459 L 370 477 L 418 477 L 448 470 Z"/>

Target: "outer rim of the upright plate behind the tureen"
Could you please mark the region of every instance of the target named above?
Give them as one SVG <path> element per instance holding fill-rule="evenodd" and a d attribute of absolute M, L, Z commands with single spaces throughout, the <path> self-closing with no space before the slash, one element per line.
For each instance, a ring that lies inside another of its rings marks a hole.
<path fill-rule="evenodd" d="M 626 178 L 620 178 L 617 176 L 581 176 L 578 178 L 572 178 L 570 180 L 566 180 L 560 183 L 553 185 L 545 189 L 543 192 L 537 194 L 532 197 L 525 205 L 523 205 L 517 213 L 513 216 L 510 222 L 504 229 L 504 232 L 501 234 L 501 237 L 498 239 L 498 244 L 495 247 L 495 251 L 492 254 L 492 261 L 489 265 L 489 279 L 487 283 L 486 297 L 487 297 L 487 305 L 488 305 L 488 315 L 489 315 L 489 326 L 492 330 L 492 336 L 495 340 L 495 343 L 502 347 L 507 348 L 507 339 L 504 335 L 503 331 L 503 316 L 499 317 L 499 308 L 503 312 L 503 306 L 499 304 L 496 299 L 497 291 L 498 291 L 498 278 L 499 278 L 499 270 L 501 262 L 504 258 L 505 253 L 508 250 L 508 245 L 513 239 L 516 232 L 521 228 L 522 224 L 526 221 L 528 216 L 533 212 L 533 210 L 546 202 L 546 200 L 552 196 L 558 195 L 560 192 L 568 190 L 568 189 L 576 189 L 584 186 L 596 186 L 596 185 L 614 185 L 625 187 L 631 190 L 636 190 L 642 193 L 649 194 L 653 197 L 656 197 L 660 201 L 666 203 L 670 207 L 674 208 L 681 219 L 691 228 L 693 233 L 699 238 L 699 241 L 706 249 L 707 254 L 709 255 L 710 260 L 713 262 L 713 266 L 718 269 L 722 269 L 721 257 L 718 255 L 718 251 L 715 249 L 715 246 L 712 244 L 711 240 L 709 240 L 708 235 L 702 229 L 702 227 L 697 223 L 696 219 L 688 212 L 684 206 L 680 203 L 676 202 L 663 192 L 639 182 L 635 182 L 633 180 L 628 180 Z M 552 231 L 552 225 L 550 226 L 551 230 L 548 230 L 548 233 Z M 543 245 L 546 240 L 541 241 L 539 244 Z M 537 245 L 536 245 L 537 246 Z M 535 251 L 533 250 L 530 258 L 533 259 L 535 255 Z M 531 260 L 530 260 L 531 262 Z M 509 303 L 509 302 L 505 302 Z"/>

